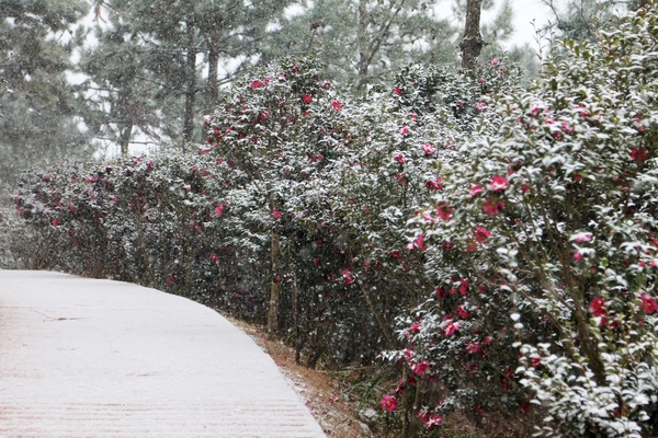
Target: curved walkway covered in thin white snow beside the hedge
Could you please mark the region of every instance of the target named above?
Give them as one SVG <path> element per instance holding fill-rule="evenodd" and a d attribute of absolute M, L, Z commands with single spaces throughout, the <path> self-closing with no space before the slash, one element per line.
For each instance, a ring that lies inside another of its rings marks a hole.
<path fill-rule="evenodd" d="M 325 437 L 211 309 L 125 283 L 0 270 L 0 437 Z"/>

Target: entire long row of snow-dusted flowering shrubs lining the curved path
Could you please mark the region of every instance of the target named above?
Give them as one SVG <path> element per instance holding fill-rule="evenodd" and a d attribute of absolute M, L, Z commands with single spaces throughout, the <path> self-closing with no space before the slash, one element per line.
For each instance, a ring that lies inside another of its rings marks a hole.
<path fill-rule="evenodd" d="M 654 434 L 657 28 L 567 42 L 530 90 L 494 59 L 348 100 L 284 61 L 204 117 L 198 154 L 24 177 L 22 262 L 266 321 L 309 366 L 387 350 L 406 436 L 454 410 Z"/>

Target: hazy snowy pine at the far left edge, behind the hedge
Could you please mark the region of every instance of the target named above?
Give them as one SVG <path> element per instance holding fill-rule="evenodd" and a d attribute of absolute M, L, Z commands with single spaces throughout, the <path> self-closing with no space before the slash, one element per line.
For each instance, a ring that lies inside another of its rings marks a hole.
<path fill-rule="evenodd" d="M 83 39 L 73 30 L 87 12 L 82 0 L 0 2 L 0 183 L 21 168 L 80 153 L 76 90 L 67 81 L 70 57 Z"/>

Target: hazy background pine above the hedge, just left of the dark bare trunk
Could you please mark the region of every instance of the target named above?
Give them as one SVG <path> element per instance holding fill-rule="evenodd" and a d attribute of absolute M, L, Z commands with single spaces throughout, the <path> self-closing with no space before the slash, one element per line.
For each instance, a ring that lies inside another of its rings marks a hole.
<path fill-rule="evenodd" d="M 455 61 L 457 30 L 435 13 L 440 0 L 300 1 L 300 11 L 280 22 L 269 59 L 318 53 L 325 77 L 361 92 L 392 79 L 409 62 Z"/>

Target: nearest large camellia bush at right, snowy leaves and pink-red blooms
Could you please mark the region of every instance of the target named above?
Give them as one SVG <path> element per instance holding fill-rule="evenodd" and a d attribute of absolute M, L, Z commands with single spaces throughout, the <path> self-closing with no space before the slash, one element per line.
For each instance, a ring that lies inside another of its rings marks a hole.
<path fill-rule="evenodd" d="M 410 430 L 410 411 L 433 436 L 461 410 L 546 436 L 657 434 L 657 43 L 654 3 L 597 43 L 565 41 L 533 87 L 491 103 L 496 132 L 436 162 L 412 222 L 436 288 L 384 354 L 404 369 L 390 420 Z"/>

